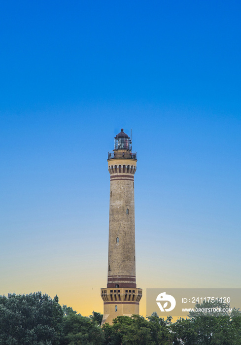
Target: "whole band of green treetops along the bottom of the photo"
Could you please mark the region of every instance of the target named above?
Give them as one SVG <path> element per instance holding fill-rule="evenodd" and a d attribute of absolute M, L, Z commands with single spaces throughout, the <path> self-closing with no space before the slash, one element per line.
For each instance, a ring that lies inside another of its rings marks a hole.
<path fill-rule="evenodd" d="M 117 316 L 100 327 L 103 315 L 84 317 L 71 307 L 37 292 L 0 296 L 0 345 L 241 345 L 241 312 L 190 312 L 190 318 L 172 322 L 153 312 Z M 197 308 L 228 308 L 203 303 Z"/>

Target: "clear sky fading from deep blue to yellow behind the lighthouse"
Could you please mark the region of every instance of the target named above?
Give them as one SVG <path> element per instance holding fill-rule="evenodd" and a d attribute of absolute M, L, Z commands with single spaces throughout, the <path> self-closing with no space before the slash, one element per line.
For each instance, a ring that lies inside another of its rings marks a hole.
<path fill-rule="evenodd" d="M 133 133 L 137 283 L 241 287 L 241 2 L 0 3 L 0 294 L 103 312 L 107 153 Z"/>

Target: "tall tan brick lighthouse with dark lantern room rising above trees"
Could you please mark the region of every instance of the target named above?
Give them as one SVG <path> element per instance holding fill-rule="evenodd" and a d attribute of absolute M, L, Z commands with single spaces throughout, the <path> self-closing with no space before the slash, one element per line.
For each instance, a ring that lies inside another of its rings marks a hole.
<path fill-rule="evenodd" d="M 142 289 L 136 284 L 134 174 L 137 153 L 130 137 L 121 132 L 108 154 L 110 173 L 109 251 L 107 287 L 101 289 L 103 321 L 112 323 L 118 315 L 139 313 Z"/>

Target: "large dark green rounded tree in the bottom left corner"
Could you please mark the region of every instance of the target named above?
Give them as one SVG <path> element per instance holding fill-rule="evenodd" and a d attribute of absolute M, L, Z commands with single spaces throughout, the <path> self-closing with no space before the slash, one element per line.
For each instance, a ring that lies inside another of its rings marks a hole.
<path fill-rule="evenodd" d="M 59 345 L 63 312 L 58 302 L 41 292 L 0 296 L 0 345 Z"/>

